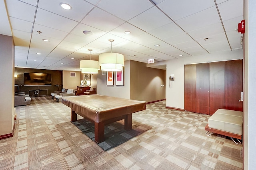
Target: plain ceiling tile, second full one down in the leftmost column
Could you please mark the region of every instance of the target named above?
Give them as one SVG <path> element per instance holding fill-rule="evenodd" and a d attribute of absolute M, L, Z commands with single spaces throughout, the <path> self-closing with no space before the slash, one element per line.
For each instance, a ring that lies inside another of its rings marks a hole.
<path fill-rule="evenodd" d="M 11 27 L 14 30 L 24 31 L 32 33 L 33 23 L 29 21 L 20 20 L 17 18 L 10 17 Z"/>

